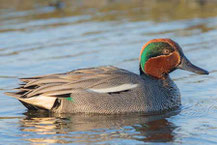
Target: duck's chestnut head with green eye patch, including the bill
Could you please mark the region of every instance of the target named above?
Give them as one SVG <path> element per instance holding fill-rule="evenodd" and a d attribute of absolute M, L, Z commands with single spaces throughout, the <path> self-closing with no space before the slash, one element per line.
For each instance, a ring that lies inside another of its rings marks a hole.
<path fill-rule="evenodd" d="M 140 52 L 141 73 L 165 79 L 178 68 L 197 74 L 209 74 L 208 71 L 193 65 L 185 57 L 182 48 L 171 39 L 153 39 L 143 46 Z"/>

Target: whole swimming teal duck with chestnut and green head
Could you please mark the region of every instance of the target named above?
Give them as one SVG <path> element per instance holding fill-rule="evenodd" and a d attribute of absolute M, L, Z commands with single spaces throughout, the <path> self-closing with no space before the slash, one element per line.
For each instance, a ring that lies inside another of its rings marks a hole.
<path fill-rule="evenodd" d="M 56 113 L 156 113 L 181 105 L 169 73 L 177 68 L 209 74 L 193 65 L 171 39 L 153 39 L 140 53 L 140 75 L 113 66 L 20 79 L 18 92 L 6 93 L 30 110 Z"/>

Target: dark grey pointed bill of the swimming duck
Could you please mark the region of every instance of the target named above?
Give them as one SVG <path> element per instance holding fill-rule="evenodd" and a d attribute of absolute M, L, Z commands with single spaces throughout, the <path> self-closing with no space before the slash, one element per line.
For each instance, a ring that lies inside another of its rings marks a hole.
<path fill-rule="evenodd" d="M 178 68 L 201 75 L 209 74 L 208 71 L 193 65 L 185 56 L 182 57 L 181 64 L 178 66 Z"/>

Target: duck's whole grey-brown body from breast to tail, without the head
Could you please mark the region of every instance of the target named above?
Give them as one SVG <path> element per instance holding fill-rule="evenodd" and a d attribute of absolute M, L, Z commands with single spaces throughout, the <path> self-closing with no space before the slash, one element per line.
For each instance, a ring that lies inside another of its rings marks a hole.
<path fill-rule="evenodd" d="M 180 105 L 180 93 L 168 77 L 157 80 L 113 66 L 21 79 L 9 93 L 29 109 L 58 113 L 157 112 Z"/>

